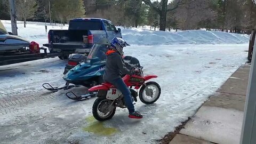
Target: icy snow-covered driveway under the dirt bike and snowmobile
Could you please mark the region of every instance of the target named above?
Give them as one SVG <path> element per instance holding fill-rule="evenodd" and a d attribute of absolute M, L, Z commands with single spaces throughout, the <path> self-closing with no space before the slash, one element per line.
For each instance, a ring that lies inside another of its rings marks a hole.
<path fill-rule="evenodd" d="M 75 102 L 66 91 L 50 93 L 42 83 L 63 85 L 65 62 L 58 58 L 0 67 L 0 143 L 156 143 L 196 109 L 246 61 L 247 45 L 130 46 L 145 74 L 162 87 L 153 105 L 138 102 L 145 117 L 129 119 L 117 109 L 113 119 L 96 122 L 95 98 Z M 75 92 L 85 92 L 82 88 Z M 89 132 L 88 132 L 89 131 Z"/>

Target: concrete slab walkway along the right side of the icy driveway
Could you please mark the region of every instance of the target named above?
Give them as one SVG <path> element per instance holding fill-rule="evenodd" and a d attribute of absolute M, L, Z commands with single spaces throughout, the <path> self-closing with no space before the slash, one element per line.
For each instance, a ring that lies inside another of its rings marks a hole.
<path fill-rule="evenodd" d="M 239 68 L 169 144 L 239 143 L 250 65 Z"/>

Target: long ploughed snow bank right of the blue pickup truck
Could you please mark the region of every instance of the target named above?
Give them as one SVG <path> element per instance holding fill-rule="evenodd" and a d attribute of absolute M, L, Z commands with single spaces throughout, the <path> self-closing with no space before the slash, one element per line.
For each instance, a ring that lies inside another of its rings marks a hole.
<path fill-rule="evenodd" d="M 248 35 L 221 31 L 185 30 L 178 32 L 122 29 L 123 38 L 137 45 L 172 44 L 243 44 L 249 41 Z"/>

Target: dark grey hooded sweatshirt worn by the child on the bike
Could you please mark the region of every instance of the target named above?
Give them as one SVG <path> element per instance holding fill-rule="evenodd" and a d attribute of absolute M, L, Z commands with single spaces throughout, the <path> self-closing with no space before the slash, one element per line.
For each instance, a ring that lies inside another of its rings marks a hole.
<path fill-rule="evenodd" d="M 112 82 L 117 78 L 121 78 L 121 73 L 123 75 L 132 75 L 132 71 L 125 67 L 125 62 L 121 55 L 117 52 L 110 53 L 107 55 L 105 73 L 103 75 L 103 80 L 105 82 Z"/>

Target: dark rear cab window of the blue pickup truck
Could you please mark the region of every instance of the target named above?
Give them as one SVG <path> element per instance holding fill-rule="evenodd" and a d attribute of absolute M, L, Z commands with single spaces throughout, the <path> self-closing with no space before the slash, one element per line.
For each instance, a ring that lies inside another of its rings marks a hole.
<path fill-rule="evenodd" d="M 70 21 L 69 30 L 103 30 L 100 21 Z"/>

